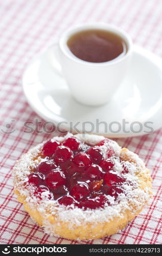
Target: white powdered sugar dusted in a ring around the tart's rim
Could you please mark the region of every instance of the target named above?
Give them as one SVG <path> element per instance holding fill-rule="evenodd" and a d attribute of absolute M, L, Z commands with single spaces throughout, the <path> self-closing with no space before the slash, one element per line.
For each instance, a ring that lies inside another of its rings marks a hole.
<path fill-rule="evenodd" d="M 65 137 L 55 137 L 55 139 L 59 142 L 62 142 L 65 138 L 70 136 L 72 136 L 72 134 L 68 133 Z M 90 134 L 77 134 L 74 136 L 91 146 L 96 145 L 104 139 L 103 136 Z M 78 207 L 74 207 L 74 205 L 65 207 L 64 205 L 60 205 L 55 200 L 49 200 L 48 191 L 43 193 L 43 200 L 39 200 L 33 195 L 33 186 L 31 185 L 27 188 L 25 187 L 24 183 L 28 181 L 28 176 L 31 172 L 31 169 L 36 168 L 41 161 L 44 161 L 44 159 L 41 157 L 38 157 L 36 160 L 34 160 L 34 158 L 40 153 L 42 145 L 43 143 L 32 148 L 17 162 L 14 167 L 14 186 L 15 190 L 18 190 L 21 196 L 26 197 L 26 201 L 31 208 L 37 209 L 39 212 L 44 214 L 43 226 L 45 227 L 46 231 L 54 233 L 54 226 L 58 224 L 56 223 L 51 225 L 49 221 L 50 216 L 57 218 L 57 222 L 64 221 L 68 223 L 68 227 L 73 229 L 76 227 L 76 225 L 79 226 L 83 223 L 85 225 L 88 223 L 94 223 L 95 225 L 95 223 L 108 222 L 114 217 L 122 218 L 123 212 L 125 210 L 140 210 L 148 202 L 151 194 L 150 188 L 147 186 L 145 186 L 144 189 L 140 188 L 139 178 L 136 175 L 136 173 L 139 172 L 141 172 L 141 174 L 146 174 L 146 167 L 144 162 L 134 153 L 129 151 L 122 151 L 118 143 L 112 140 L 109 141 L 108 145 L 103 145 L 102 150 L 104 152 L 104 158 L 106 159 L 108 146 L 113 148 L 115 152 L 115 155 L 112 157 L 114 161 L 114 169 L 120 173 L 122 172 L 122 164 L 119 159 L 120 157 L 124 158 L 125 154 L 127 155 L 128 159 L 131 160 L 125 161 L 125 165 L 127 166 L 129 173 L 123 175 L 126 179 L 126 182 L 122 185 L 125 193 L 120 194 L 117 201 L 114 201 L 113 197 L 107 196 L 110 205 L 105 205 L 105 207 L 102 209 L 99 208 L 95 210 L 83 210 Z M 55 234 L 55 236 L 56 235 L 57 234 Z"/>

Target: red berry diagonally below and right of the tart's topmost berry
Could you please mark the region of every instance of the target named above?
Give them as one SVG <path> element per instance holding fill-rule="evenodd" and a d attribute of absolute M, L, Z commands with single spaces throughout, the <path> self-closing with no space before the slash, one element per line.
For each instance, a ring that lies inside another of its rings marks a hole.
<path fill-rule="evenodd" d="M 77 171 L 81 172 L 91 164 L 91 159 L 86 153 L 80 152 L 74 156 L 72 162 L 77 167 Z"/>

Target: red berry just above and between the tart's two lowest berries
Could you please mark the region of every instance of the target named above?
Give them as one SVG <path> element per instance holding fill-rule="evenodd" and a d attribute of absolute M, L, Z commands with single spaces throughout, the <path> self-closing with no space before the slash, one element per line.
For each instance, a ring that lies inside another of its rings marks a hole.
<path fill-rule="evenodd" d="M 86 198 L 87 196 L 89 196 L 90 192 L 89 192 L 89 188 L 88 185 L 86 183 L 79 183 L 76 184 L 71 191 L 71 195 L 77 200 L 80 201 L 84 198 Z"/>

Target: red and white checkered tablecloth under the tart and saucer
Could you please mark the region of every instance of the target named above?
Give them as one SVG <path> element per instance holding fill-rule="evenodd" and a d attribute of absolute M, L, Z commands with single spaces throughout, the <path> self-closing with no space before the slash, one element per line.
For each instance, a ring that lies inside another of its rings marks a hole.
<path fill-rule="evenodd" d="M 99 21 L 120 26 L 136 44 L 162 57 L 161 13 L 161 0 L 0 1 L 0 243 L 78 243 L 45 234 L 13 194 L 12 167 L 15 161 L 29 148 L 52 136 L 24 132 L 25 121 L 39 118 L 26 102 L 21 86 L 21 77 L 30 59 L 57 42 L 67 27 Z M 118 142 L 137 153 L 150 168 L 154 198 L 150 206 L 121 232 L 80 243 L 162 243 L 162 130 L 143 137 L 118 139 Z"/>

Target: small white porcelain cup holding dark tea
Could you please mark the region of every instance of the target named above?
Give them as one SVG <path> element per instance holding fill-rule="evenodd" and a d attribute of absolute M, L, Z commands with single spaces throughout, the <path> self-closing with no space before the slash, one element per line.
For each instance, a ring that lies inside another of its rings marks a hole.
<path fill-rule="evenodd" d="M 127 52 L 107 62 L 88 62 L 76 57 L 67 46 L 67 40 L 75 33 L 102 29 L 124 39 Z M 122 29 L 105 23 L 83 24 L 66 30 L 59 40 L 59 62 L 62 74 L 74 98 L 86 105 L 102 105 L 108 102 L 123 81 L 132 52 L 132 41 Z"/>

